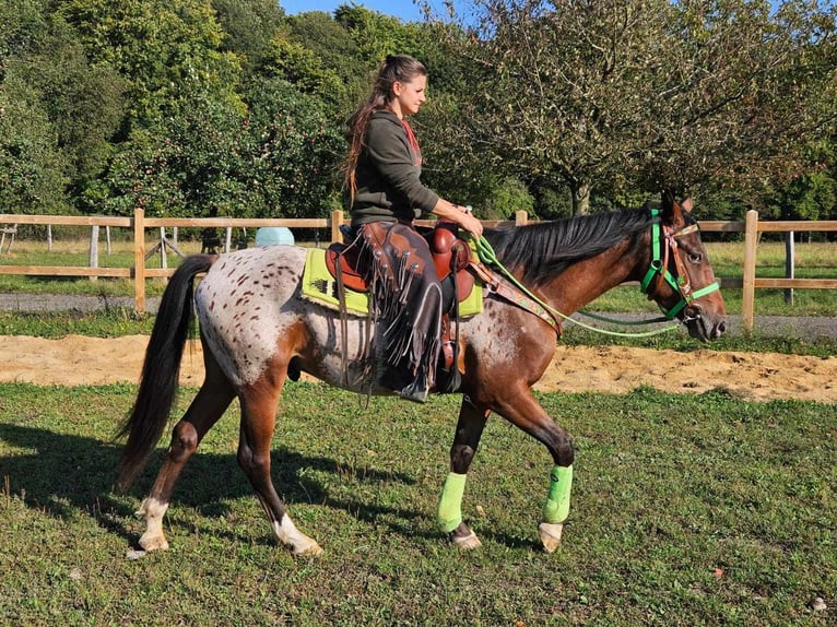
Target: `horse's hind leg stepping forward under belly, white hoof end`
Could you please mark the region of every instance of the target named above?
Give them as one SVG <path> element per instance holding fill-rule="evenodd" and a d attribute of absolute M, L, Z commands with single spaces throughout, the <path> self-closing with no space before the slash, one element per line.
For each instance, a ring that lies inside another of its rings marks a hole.
<path fill-rule="evenodd" d="M 273 372 L 273 374 L 271 374 Z M 275 372 L 281 372 L 275 375 Z M 286 378 L 286 367 L 271 368 L 255 385 L 239 394 L 241 426 L 238 440 L 238 465 L 256 490 L 268 516 L 273 535 L 294 555 L 317 556 L 322 548 L 302 533 L 285 510 L 270 476 L 270 452 L 279 397 Z"/>

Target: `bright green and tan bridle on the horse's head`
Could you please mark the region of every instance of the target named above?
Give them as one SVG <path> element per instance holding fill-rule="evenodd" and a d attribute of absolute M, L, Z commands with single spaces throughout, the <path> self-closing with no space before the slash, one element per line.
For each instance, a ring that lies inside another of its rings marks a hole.
<path fill-rule="evenodd" d="M 651 210 L 651 217 L 657 217 L 659 213 L 659 210 Z M 683 267 L 683 261 L 681 260 L 680 255 L 677 255 L 676 238 L 683 235 L 688 235 L 689 233 L 695 233 L 696 230 L 698 230 L 697 224 L 689 224 L 680 230 L 671 229 L 664 225 L 662 225 L 661 228 L 659 221 L 651 225 L 651 265 L 648 268 L 648 272 L 646 272 L 645 277 L 640 282 L 640 289 L 643 291 L 643 294 L 646 294 L 648 295 L 648 298 L 651 298 L 651 282 L 653 281 L 655 276 L 657 276 L 657 282 L 655 285 L 660 285 L 664 281 L 677 294 L 680 294 L 680 301 L 671 309 L 665 309 L 662 305 L 660 305 L 660 309 L 669 320 L 680 314 L 684 307 L 692 305 L 695 299 L 700 298 L 702 296 L 706 296 L 716 289 L 720 289 L 720 285 L 716 281 L 706 287 L 702 287 L 697 292 L 692 291 L 688 272 Z M 662 234 L 664 234 L 665 237 L 664 247 L 662 244 Z M 669 272 L 670 255 L 674 257 L 674 267 L 677 272 L 676 276 Z"/>

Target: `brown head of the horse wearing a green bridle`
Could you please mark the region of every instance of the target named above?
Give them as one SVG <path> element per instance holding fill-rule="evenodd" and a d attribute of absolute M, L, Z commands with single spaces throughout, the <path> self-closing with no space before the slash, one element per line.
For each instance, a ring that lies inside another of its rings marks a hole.
<path fill-rule="evenodd" d="M 651 235 L 651 262 L 641 282 L 648 298 L 667 317 L 677 318 L 702 342 L 727 330 L 727 308 L 700 230 L 692 216 L 692 199 L 663 197 L 660 224 Z"/>

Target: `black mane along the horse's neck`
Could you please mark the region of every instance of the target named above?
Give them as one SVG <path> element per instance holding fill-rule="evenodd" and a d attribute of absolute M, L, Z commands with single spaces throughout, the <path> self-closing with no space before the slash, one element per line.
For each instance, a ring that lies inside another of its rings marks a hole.
<path fill-rule="evenodd" d="M 522 271 L 524 283 L 538 286 L 567 267 L 588 259 L 648 228 L 659 218 L 645 209 L 624 209 L 524 226 L 485 229 L 497 259 Z"/>

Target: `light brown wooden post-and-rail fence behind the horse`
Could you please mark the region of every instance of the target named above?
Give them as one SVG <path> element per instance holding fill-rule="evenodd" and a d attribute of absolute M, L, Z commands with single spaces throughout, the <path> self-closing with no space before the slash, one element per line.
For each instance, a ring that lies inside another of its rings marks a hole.
<path fill-rule="evenodd" d="M 0 274 L 25 274 L 33 276 L 109 276 L 132 279 L 134 285 L 134 309 L 139 314 L 145 312 L 145 280 L 167 277 L 174 272 L 173 269 L 152 269 L 145 267 L 146 230 L 150 228 L 165 229 L 168 227 L 197 227 L 197 228 L 248 228 L 262 226 L 285 226 L 288 228 L 328 228 L 331 233 L 331 241 L 342 240 L 340 226 L 345 223 L 342 211 L 333 211 L 330 217 L 321 218 L 227 218 L 227 217 L 145 217 L 142 210 L 137 210 L 133 217 L 99 217 L 99 216 L 60 216 L 60 215 L 20 215 L 0 214 L 0 225 L 64 225 L 64 226 L 91 226 L 91 227 L 121 227 L 133 230 L 134 264 L 131 268 L 98 268 L 91 267 L 64 267 L 64 265 L 2 265 Z M 517 212 L 515 221 L 483 221 L 485 226 L 498 226 L 506 224 L 521 225 L 527 223 L 524 211 Z M 418 221 L 418 224 L 431 224 L 428 221 Z M 742 277 L 720 277 L 721 287 L 742 288 L 742 326 L 746 332 L 753 330 L 755 314 L 755 289 L 759 287 L 774 288 L 813 288 L 835 289 L 837 279 L 762 279 L 756 276 L 756 249 L 761 233 L 805 233 L 805 232 L 835 232 L 837 221 L 781 221 L 761 222 L 756 211 L 748 211 L 744 222 L 727 221 L 702 221 L 700 229 L 704 232 L 744 233 L 744 264 Z M 161 233 L 164 233 L 161 230 Z M 161 240 L 162 241 L 162 240 Z M 228 238 L 227 238 L 228 242 Z M 157 245 L 160 246 L 160 245 Z M 162 250 L 165 255 L 165 248 Z"/>

